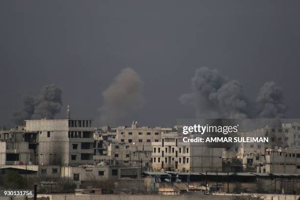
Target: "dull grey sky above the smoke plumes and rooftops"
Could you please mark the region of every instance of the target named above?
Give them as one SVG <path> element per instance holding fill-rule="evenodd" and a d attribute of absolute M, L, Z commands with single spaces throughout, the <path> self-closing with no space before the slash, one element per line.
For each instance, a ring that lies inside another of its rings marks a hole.
<path fill-rule="evenodd" d="M 144 81 L 145 107 L 122 120 L 175 125 L 193 118 L 178 98 L 199 67 L 239 80 L 255 99 L 275 81 L 300 113 L 300 1 L 0 1 L 0 125 L 24 94 L 63 91 L 72 117 L 98 118 L 102 92 L 126 67 Z M 121 125 L 120 124 L 120 125 Z"/>

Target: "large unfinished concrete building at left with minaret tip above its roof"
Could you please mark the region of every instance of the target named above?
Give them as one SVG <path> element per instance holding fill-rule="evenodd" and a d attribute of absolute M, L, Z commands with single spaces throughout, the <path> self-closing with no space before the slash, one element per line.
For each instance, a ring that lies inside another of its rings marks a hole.
<path fill-rule="evenodd" d="M 92 120 L 41 119 L 25 120 L 25 124 L 25 132 L 38 135 L 38 165 L 93 164 Z"/>

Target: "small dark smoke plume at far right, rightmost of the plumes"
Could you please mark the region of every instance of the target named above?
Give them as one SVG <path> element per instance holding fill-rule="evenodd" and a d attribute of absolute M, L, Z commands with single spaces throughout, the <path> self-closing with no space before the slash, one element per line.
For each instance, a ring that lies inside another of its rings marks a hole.
<path fill-rule="evenodd" d="M 275 82 L 266 82 L 259 90 L 256 101 L 262 118 L 283 118 L 287 106 L 283 103 L 283 92 Z"/>

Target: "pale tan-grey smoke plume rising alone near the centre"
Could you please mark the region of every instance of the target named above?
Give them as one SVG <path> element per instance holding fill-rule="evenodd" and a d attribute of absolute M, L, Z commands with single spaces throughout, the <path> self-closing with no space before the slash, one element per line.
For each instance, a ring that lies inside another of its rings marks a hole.
<path fill-rule="evenodd" d="M 145 104 L 143 81 L 131 68 L 122 70 L 102 96 L 100 122 L 103 125 L 116 125 L 129 111 L 140 109 Z"/>

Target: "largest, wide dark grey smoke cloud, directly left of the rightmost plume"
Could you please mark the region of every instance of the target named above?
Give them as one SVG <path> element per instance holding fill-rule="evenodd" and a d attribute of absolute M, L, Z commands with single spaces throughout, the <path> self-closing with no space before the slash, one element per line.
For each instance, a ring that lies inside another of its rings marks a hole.
<path fill-rule="evenodd" d="M 179 100 L 195 107 L 198 118 L 250 117 L 250 100 L 243 86 L 237 80 L 229 81 L 217 70 L 197 69 L 191 89 L 191 93 L 182 95 Z"/>

